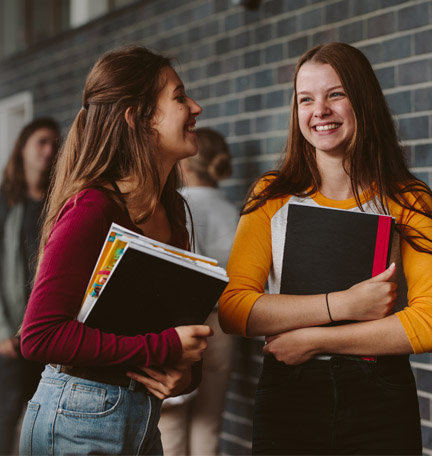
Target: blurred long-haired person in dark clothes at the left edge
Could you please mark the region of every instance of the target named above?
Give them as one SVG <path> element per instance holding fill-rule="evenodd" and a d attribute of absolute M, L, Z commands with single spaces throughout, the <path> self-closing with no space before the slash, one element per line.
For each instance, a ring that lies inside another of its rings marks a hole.
<path fill-rule="evenodd" d="M 13 451 L 25 402 L 42 365 L 24 360 L 16 335 L 30 295 L 40 218 L 60 129 L 49 118 L 25 126 L 0 186 L 0 454 Z"/>

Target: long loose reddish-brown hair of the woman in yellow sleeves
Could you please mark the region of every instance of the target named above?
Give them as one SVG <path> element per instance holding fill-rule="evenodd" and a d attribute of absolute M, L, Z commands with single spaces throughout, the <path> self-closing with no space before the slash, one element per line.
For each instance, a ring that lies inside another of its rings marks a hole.
<path fill-rule="evenodd" d="M 264 174 L 269 185 L 261 192 L 249 191 L 242 214 L 252 212 L 267 200 L 286 195 L 313 195 L 321 186 L 315 148 L 303 137 L 298 121 L 297 75 L 303 64 L 329 64 L 336 71 L 355 116 L 355 131 L 344 157 L 344 168 L 351 180 L 351 188 L 358 207 L 363 210 L 360 193 L 373 188 L 378 205 L 388 213 L 388 199 L 400 206 L 432 219 L 432 209 L 422 195 L 431 195 L 429 187 L 408 170 L 404 151 L 381 90 L 378 79 L 365 55 L 344 43 L 328 43 L 306 52 L 298 61 L 294 75 L 291 121 L 288 140 L 279 169 Z M 360 191 L 359 191 L 360 189 Z M 406 194 L 414 192 L 422 209 L 413 207 Z M 416 250 L 432 253 L 417 239 L 428 239 L 423 233 L 401 224 L 397 230 Z M 410 233 L 410 234 L 408 234 Z"/>

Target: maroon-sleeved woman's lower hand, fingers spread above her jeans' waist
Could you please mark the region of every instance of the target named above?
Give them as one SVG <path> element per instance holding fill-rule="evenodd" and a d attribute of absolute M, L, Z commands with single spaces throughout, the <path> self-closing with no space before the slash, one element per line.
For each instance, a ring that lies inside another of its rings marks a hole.
<path fill-rule="evenodd" d="M 127 372 L 127 376 L 142 383 L 159 399 L 166 399 L 180 395 L 187 389 L 192 381 L 191 368 L 178 369 L 174 367 L 163 367 L 156 369 L 151 367 L 140 367 L 147 376 L 136 372 Z"/>

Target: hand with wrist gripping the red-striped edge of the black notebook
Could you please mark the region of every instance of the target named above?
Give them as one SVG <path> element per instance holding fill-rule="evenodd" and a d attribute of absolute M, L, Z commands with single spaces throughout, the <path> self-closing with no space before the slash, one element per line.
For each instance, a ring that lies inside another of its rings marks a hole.
<path fill-rule="evenodd" d="M 353 285 L 348 290 L 330 293 L 330 312 L 334 320 L 378 320 L 387 316 L 396 299 L 397 284 L 392 282 L 396 266 Z"/>

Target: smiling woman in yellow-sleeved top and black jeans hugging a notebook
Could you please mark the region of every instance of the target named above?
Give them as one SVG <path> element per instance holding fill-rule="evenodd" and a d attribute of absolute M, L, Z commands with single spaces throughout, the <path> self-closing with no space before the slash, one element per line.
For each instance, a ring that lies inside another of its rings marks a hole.
<path fill-rule="evenodd" d="M 266 336 L 253 454 L 421 454 L 408 355 L 432 350 L 432 195 L 359 50 L 300 58 L 285 153 L 243 208 L 219 306 L 226 332 Z M 328 302 L 280 294 L 292 202 L 392 215 L 392 265 Z"/>

